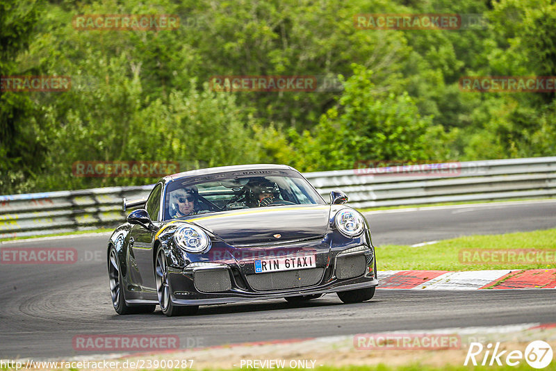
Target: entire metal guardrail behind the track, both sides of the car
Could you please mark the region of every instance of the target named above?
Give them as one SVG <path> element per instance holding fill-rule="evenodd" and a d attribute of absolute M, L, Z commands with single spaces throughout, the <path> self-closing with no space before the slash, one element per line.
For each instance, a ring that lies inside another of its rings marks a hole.
<path fill-rule="evenodd" d="M 328 199 L 343 190 L 350 206 L 368 208 L 436 202 L 556 196 L 556 157 L 381 167 L 304 176 Z M 122 198 L 146 197 L 152 185 L 0 196 L 0 238 L 112 227 L 124 221 Z"/>

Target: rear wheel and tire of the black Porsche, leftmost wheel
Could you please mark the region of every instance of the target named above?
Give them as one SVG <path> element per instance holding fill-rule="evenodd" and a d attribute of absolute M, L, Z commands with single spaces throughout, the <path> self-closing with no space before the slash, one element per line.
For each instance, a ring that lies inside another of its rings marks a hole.
<path fill-rule="evenodd" d="M 126 304 L 122 288 L 122 269 L 114 247 L 111 247 L 108 253 L 108 282 L 110 283 L 112 306 L 117 314 L 153 313 L 156 309 L 156 305 L 129 306 Z"/>

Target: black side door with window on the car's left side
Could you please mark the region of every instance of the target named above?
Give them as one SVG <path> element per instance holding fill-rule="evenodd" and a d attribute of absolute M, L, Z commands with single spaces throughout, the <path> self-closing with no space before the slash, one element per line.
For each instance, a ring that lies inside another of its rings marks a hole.
<path fill-rule="evenodd" d="M 152 190 L 145 209 L 149 213 L 149 217 L 158 226 L 158 220 L 161 209 L 162 184 L 158 183 Z M 154 265 L 153 265 L 153 239 L 156 231 L 149 231 L 144 226 L 134 225 L 130 232 L 129 245 L 135 264 L 143 293 L 142 299 L 156 299 L 156 284 L 154 281 Z"/>

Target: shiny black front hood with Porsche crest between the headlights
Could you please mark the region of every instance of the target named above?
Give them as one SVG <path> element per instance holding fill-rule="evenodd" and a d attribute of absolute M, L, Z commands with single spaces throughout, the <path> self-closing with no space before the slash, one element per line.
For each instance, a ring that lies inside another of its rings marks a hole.
<path fill-rule="evenodd" d="M 329 213 L 327 205 L 272 206 L 227 211 L 187 221 L 210 231 L 229 245 L 256 245 L 324 236 Z"/>

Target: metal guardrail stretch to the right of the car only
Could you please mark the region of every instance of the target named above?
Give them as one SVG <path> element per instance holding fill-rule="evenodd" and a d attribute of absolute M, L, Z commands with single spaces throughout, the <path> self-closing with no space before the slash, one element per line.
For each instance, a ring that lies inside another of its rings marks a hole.
<path fill-rule="evenodd" d="M 556 157 L 436 165 L 409 176 L 407 168 L 378 175 L 372 169 L 304 175 L 321 195 L 343 190 L 357 208 L 556 196 Z"/>

